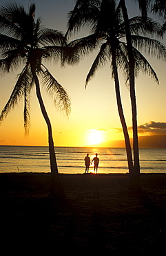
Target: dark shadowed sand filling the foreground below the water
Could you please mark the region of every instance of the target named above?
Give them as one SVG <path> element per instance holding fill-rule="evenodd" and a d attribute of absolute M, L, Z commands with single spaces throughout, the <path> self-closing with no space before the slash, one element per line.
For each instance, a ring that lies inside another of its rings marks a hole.
<path fill-rule="evenodd" d="M 1 251 L 34 253 L 166 252 L 166 174 L 60 174 L 66 199 L 48 200 L 50 174 L 0 174 Z"/>

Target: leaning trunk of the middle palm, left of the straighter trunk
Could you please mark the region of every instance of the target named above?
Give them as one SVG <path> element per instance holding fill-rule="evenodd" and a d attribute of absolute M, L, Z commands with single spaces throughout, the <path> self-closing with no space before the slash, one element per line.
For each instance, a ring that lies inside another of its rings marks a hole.
<path fill-rule="evenodd" d="M 127 131 L 127 125 L 125 122 L 125 116 L 123 113 L 123 107 L 121 102 L 121 93 L 119 89 L 119 80 L 118 80 L 118 68 L 116 66 L 116 51 L 113 50 L 112 47 L 112 66 L 113 66 L 113 72 L 114 72 L 114 82 L 115 82 L 115 89 L 116 89 L 116 100 L 118 105 L 118 114 L 121 119 L 121 124 L 123 127 L 123 134 L 125 137 L 125 148 L 127 152 L 127 163 L 129 167 L 129 188 L 132 187 L 132 181 L 133 181 L 133 162 L 132 162 L 132 149 L 129 141 L 129 134 Z"/>

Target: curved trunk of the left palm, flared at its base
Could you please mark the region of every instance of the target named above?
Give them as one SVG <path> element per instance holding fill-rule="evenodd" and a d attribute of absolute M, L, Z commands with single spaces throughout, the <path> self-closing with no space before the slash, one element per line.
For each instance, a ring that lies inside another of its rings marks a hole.
<path fill-rule="evenodd" d="M 40 86 L 39 86 L 39 79 L 35 72 L 35 69 L 32 67 L 32 75 L 34 77 L 34 82 L 36 85 L 36 93 L 37 98 L 39 100 L 39 104 L 41 107 L 41 112 L 43 114 L 43 118 L 48 126 L 48 145 L 49 145 L 49 152 L 50 152 L 50 169 L 51 169 L 51 184 L 50 184 L 50 196 L 56 196 L 56 198 L 65 198 L 65 192 L 63 190 L 63 186 L 59 179 L 59 172 L 56 163 L 56 156 L 54 152 L 54 141 L 52 138 L 52 126 L 50 123 L 50 119 L 48 117 L 48 113 L 45 109 L 45 105 L 43 103 L 43 99 L 41 96 Z"/>

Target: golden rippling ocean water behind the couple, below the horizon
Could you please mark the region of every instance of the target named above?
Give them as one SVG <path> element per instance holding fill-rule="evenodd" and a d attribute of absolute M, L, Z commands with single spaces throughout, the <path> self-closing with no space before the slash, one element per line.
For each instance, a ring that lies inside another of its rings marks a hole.
<path fill-rule="evenodd" d="M 98 154 L 98 173 L 127 173 L 124 148 L 55 147 L 59 173 L 83 174 L 87 153 Z M 166 149 L 140 149 L 141 173 L 166 173 Z M 0 146 L 0 172 L 50 172 L 48 147 Z M 93 172 L 93 165 L 90 166 Z"/>

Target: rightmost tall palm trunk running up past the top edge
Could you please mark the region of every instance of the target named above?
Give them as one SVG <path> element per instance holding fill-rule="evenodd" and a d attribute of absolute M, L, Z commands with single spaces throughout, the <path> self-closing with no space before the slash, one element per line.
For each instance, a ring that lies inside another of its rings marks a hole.
<path fill-rule="evenodd" d="M 125 0 L 121 0 L 123 18 L 125 21 L 127 51 L 129 57 L 129 88 L 130 98 L 132 103 L 132 127 L 133 127 L 133 149 L 134 149 L 134 179 L 133 188 L 140 189 L 140 163 L 139 163 L 139 148 L 138 148 L 138 129 L 137 129 L 137 111 L 136 111 L 136 92 L 135 92 L 135 77 L 134 77 L 134 55 L 132 51 L 132 39 L 129 30 L 129 19 Z"/>

